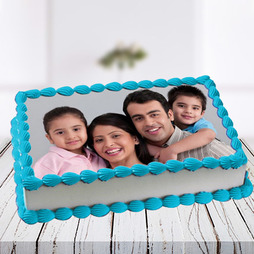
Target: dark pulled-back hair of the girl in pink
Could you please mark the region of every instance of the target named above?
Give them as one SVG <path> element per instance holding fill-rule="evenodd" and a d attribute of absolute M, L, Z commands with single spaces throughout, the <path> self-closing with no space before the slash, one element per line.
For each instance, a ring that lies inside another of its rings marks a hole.
<path fill-rule="evenodd" d="M 57 107 L 57 108 L 50 110 L 43 117 L 43 125 L 44 125 L 44 129 L 45 129 L 46 133 L 49 134 L 50 122 L 57 119 L 58 117 L 66 115 L 66 114 L 75 115 L 76 117 L 80 118 L 80 120 L 87 127 L 87 121 L 86 121 L 83 113 L 79 109 L 71 108 L 71 107 L 67 107 L 67 106 Z"/>

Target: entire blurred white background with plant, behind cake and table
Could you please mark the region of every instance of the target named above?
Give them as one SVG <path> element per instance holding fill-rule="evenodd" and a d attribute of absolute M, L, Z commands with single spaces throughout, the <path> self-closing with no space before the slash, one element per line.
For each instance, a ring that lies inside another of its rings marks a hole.
<path fill-rule="evenodd" d="M 254 148 L 254 0 L 0 0 L 0 139 L 18 91 L 202 75 Z"/>

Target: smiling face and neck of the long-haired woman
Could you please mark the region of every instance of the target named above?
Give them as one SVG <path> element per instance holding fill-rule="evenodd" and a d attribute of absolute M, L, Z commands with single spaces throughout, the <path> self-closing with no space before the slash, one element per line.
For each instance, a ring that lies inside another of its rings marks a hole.
<path fill-rule="evenodd" d="M 93 143 L 95 151 L 107 160 L 112 168 L 118 165 L 131 167 L 140 163 L 135 151 L 135 145 L 139 144 L 138 139 L 120 128 L 97 125 L 93 131 Z"/>

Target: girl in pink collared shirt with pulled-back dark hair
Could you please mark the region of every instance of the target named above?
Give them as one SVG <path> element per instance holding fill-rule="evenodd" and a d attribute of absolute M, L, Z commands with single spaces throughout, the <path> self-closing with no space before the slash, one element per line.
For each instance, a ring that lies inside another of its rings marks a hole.
<path fill-rule="evenodd" d="M 83 113 L 72 107 L 57 107 L 44 115 L 46 138 L 52 144 L 49 152 L 34 165 L 35 176 L 42 179 L 47 174 L 80 174 L 89 169 L 105 168 L 105 161 L 86 148 L 87 121 Z"/>

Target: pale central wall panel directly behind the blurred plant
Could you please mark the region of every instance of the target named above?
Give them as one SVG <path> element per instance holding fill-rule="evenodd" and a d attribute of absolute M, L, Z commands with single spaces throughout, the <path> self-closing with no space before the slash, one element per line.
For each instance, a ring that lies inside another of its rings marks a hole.
<path fill-rule="evenodd" d="M 194 1 L 55 0 L 51 3 L 52 83 L 111 82 L 98 59 L 118 41 L 137 42 L 148 57 L 123 80 L 194 75 Z"/>

